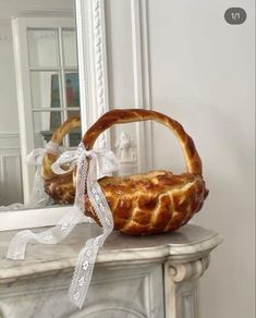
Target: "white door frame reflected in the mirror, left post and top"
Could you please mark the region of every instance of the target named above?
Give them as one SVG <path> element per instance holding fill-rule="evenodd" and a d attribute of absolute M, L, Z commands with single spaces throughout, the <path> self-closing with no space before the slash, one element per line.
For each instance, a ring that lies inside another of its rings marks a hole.
<path fill-rule="evenodd" d="M 26 164 L 27 155 L 35 148 L 34 124 L 32 113 L 31 74 L 28 63 L 27 28 L 57 28 L 74 26 L 71 17 L 14 17 L 12 19 L 14 63 L 16 72 L 17 110 L 21 137 L 21 160 L 24 201 L 29 201 L 34 182 L 34 169 Z"/>

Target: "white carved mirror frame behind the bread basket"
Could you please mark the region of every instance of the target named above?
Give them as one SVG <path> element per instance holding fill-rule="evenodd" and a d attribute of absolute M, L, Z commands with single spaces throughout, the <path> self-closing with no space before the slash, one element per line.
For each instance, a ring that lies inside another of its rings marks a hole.
<path fill-rule="evenodd" d="M 109 110 L 103 0 L 75 0 L 82 133 Z M 99 147 L 108 147 L 108 133 Z M 0 212 L 0 231 L 53 225 L 70 207 Z"/>

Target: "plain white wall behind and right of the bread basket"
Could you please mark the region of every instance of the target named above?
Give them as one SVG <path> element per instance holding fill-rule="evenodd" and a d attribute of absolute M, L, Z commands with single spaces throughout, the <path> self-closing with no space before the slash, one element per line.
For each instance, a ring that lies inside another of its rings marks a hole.
<path fill-rule="evenodd" d="M 136 102 L 134 3 L 108 0 L 110 105 Z M 210 189 L 193 221 L 223 235 L 202 281 L 202 317 L 255 317 L 255 110 L 253 1 L 141 0 L 148 5 L 149 100 L 193 136 Z M 229 25 L 230 7 L 247 12 Z M 136 21 L 135 21 L 136 22 Z M 145 33 L 144 33 L 145 36 Z M 144 39 L 144 38 L 143 38 Z M 143 41 L 145 49 L 145 41 Z M 142 71 L 143 72 L 143 71 Z M 144 76 L 145 74 L 142 73 Z M 145 80 L 145 78 L 144 78 Z M 144 81 L 145 82 L 145 81 Z M 145 84 L 145 83 L 144 83 Z M 154 167 L 182 171 L 174 138 L 154 125 Z"/>

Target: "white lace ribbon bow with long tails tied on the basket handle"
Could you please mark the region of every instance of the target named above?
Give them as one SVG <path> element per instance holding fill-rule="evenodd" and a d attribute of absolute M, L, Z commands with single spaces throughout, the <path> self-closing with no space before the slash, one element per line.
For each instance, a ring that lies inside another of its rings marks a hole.
<path fill-rule="evenodd" d="M 89 163 L 87 158 L 90 158 Z M 58 222 L 58 224 L 41 233 L 33 233 L 29 230 L 19 232 L 10 243 L 8 258 L 23 259 L 26 244 L 32 238 L 44 244 L 57 244 L 62 241 L 77 224 L 85 219 L 85 193 L 102 225 L 102 234 L 89 238 L 85 247 L 80 252 L 73 280 L 70 286 L 70 299 L 82 308 L 89 282 L 93 276 L 94 265 L 98 249 L 103 245 L 106 238 L 113 230 L 112 213 L 106 197 L 97 182 L 97 168 L 100 174 L 107 174 L 118 169 L 117 158 L 110 150 L 86 150 L 83 143 L 77 150 L 62 154 L 52 170 L 58 173 L 66 173 L 76 164 L 76 193 L 74 207 Z M 69 170 L 61 166 L 69 164 Z"/>

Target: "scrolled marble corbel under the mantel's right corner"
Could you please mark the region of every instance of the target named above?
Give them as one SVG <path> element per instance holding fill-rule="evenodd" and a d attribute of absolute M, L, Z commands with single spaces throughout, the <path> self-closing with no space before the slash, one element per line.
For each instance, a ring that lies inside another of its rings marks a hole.
<path fill-rule="evenodd" d="M 209 262 L 210 256 L 207 255 L 206 257 L 192 262 L 169 265 L 168 271 L 171 280 L 174 282 L 195 280 L 204 274 L 205 270 L 209 266 Z"/>

